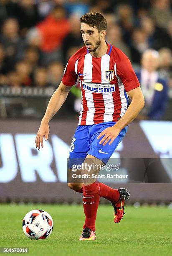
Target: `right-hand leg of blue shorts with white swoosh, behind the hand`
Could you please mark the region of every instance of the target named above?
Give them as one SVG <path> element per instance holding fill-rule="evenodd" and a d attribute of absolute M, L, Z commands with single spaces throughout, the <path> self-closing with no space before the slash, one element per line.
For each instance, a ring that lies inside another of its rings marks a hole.
<path fill-rule="evenodd" d="M 119 135 L 116 137 L 116 139 L 113 141 L 111 145 L 108 143 L 103 146 L 102 144 L 99 144 L 101 141 L 101 138 L 98 140 L 97 137 L 99 134 L 104 131 L 104 129 L 111 127 L 115 124 L 115 122 L 106 122 L 101 123 L 98 125 L 94 125 L 93 128 L 90 130 L 90 149 L 87 152 L 87 154 L 90 154 L 92 156 L 95 156 L 96 158 L 100 159 L 101 161 L 106 164 L 111 157 L 111 155 L 114 153 L 115 149 L 117 148 L 120 141 L 124 138 L 127 127 L 121 130 Z"/>

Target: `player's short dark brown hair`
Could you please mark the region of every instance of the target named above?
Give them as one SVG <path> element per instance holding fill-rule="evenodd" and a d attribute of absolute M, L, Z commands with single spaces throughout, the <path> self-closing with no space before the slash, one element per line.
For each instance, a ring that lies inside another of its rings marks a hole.
<path fill-rule="evenodd" d="M 107 21 L 104 15 L 98 12 L 86 13 L 80 18 L 80 22 L 88 24 L 90 27 L 96 27 L 99 33 L 106 30 Z"/>

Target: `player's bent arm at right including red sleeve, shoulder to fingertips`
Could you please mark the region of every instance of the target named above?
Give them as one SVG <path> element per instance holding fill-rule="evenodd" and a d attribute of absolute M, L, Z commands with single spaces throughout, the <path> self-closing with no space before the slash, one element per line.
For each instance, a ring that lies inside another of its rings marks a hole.
<path fill-rule="evenodd" d="M 103 144 L 103 146 L 105 146 L 106 143 L 111 145 L 114 139 L 119 135 L 120 131 L 126 125 L 131 123 L 144 107 L 144 96 L 139 86 L 139 81 L 134 73 L 131 62 L 121 51 L 119 51 L 119 59 L 117 61 L 115 74 L 118 79 L 121 79 L 121 82 L 123 83 L 132 102 L 123 117 L 114 126 L 102 131 L 97 137 L 100 139 L 103 136 L 99 142 L 100 144 Z"/>

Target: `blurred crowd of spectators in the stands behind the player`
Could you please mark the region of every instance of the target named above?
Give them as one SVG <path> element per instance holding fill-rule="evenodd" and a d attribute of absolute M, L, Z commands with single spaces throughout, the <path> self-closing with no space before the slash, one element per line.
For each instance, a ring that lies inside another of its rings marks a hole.
<path fill-rule="evenodd" d="M 83 46 L 79 18 L 92 11 L 105 15 L 106 41 L 135 69 L 147 49 L 156 50 L 159 76 L 172 87 L 170 0 L 0 0 L 0 86 L 58 87 Z"/>

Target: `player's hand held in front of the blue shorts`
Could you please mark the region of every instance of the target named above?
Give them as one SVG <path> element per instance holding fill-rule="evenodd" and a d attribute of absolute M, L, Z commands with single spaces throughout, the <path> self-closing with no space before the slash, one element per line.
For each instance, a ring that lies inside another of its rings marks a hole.
<path fill-rule="evenodd" d="M 100 139 L 103 136 L 103 138 L 99 143 L 100 144 L 103 143 L 103 146 L 105 146 L 109 142 L 109 145 L 111 145 L 114 139 L 116 139 L 116 137 L 119 135 L 120 131 L 121 129 L 118 127 L 115 127 L 115 125 L 112 127 L 108 127 L 99 134 L 97 139 Z"/>

